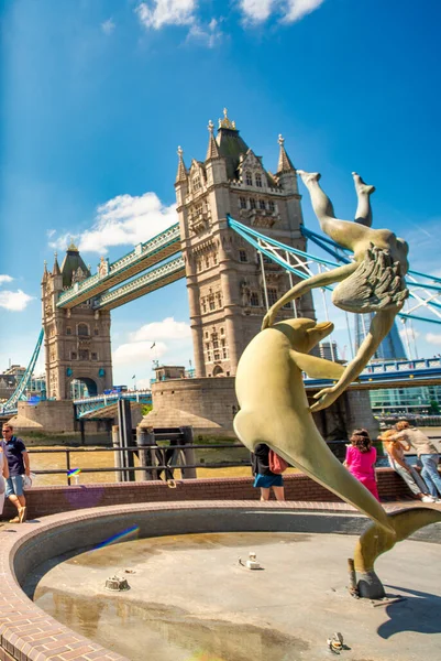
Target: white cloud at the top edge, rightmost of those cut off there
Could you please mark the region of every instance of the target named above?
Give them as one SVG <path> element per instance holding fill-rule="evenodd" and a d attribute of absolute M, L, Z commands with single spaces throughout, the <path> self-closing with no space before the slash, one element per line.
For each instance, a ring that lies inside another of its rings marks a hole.
<path fill-rule="evenodd" d="M 294 23 L 318 9 L 324 0 L 240 0 L 239 7 L 250 23 L 263 23 L 272 14 L 283 23 Z"/>

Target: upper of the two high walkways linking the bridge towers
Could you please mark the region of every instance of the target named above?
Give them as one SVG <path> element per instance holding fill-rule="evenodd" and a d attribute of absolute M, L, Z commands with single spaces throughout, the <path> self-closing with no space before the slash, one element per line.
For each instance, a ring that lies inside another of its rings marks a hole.
<path fill-rule="evenodd" d="M 178 252 L 180 252 L 180 234 L 179 224 L 176 223 L 109 264 L 107 274 L 96 273 L 82 282 L 76 282 L 59 295 L 57 307 L 75 307 Z M 141 293 L 137 292 L 137 295 Z"/>

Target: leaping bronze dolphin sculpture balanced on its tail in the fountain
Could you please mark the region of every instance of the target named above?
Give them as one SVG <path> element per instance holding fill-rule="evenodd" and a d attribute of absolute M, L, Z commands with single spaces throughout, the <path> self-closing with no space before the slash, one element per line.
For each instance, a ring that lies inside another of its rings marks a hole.
<path fill-rule="evenodd" d="M 361 596 L 378 598 L 384 596 L 384 588 L 374 572 L 376 557 L 422 525 L 441 521 L 441 512 L 425 507 L 387 514 L 321 437 L 309 408 L 302 372 L 316 379 L 340 379 L 343 366 L 309 354 L 332 329 L 330 322 L 293 318 L 265 328 L 252 339 L 235 377 L 241 410 L 234 419 L 234 430 L 250 451 L 266 443 L 289 464 L 372 519 L 373 524 L 359 541 L 354 561 L 355 571 L 362 576 Z"/>

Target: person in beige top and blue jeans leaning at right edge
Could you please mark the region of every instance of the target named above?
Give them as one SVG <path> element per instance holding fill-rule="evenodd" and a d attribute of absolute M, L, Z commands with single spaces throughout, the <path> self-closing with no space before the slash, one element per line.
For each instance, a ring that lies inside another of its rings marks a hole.
<path fill-rule="evenodd" d="M 418 458 L 422 464 L 421 477 L 436 502 L 441 502 L 441 476 L 438 472 L 440 455 L 437 447 L 420 430 L 410 427 L 407 420 L 397 422 L 395 429 L 397 433 L 393 438 L 400 443 L 405 442 L 409 447 L 411 445 L 417 451 Z M 405 447 L 405 449 L 408 449 L 408 447 Z"/>

